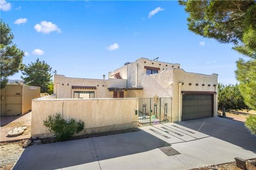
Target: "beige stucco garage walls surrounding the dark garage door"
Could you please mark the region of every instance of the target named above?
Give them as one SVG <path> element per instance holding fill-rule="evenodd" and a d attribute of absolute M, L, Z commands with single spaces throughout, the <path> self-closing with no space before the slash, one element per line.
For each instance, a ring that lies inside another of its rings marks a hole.
<path fill-rule="evenodd" d="M 179 91 L 179 82 L 182 82 Z M 191 86 L 189 86 L 191 83 Z M 196 86 L 198 83 L 198 86 Z M 205 86 L 202 86 L 205 84 Z M 210 86 L 208 86 L 210 84 Z M 214 84 L 217 85 L 214 87 Z M 143 87 L 138 97 L 172 97 L 172 120 L 178 122 L 182 116 L 181 91 L 218 92 L 218 74 L 205 75 L 185 72 L 183 69 L 162 70 L 158 74 L 140 75 L 138 86 Z M 180 98 L 179 98 L 180 94 Z M 217 115 L 218 94 L 214 94 L 214 116 Z M 180 108 L 180 109 L 179 109 Z"/>

